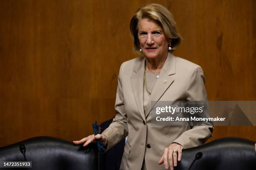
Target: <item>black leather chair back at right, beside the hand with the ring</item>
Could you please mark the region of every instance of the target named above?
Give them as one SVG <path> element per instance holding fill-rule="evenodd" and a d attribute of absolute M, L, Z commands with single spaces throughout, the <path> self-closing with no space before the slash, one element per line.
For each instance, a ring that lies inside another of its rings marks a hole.
<path fill-rule="evenodd" d="M 256 170 L 254 143 L 242 138 L 221 138 L 202 146 L 184 149 L 176 170 L 188 170 L 195 155 L 201 152 L 191 170 Z"/>

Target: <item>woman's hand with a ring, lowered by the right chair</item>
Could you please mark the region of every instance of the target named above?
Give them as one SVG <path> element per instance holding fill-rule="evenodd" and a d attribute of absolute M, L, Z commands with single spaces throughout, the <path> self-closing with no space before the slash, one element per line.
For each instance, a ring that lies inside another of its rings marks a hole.
<path fill-rule="evenodd" d="M 179 145 L 178 143 L 172 143 L 170 146 L 164 149 L 164 154 L 158 161 L 158 164 L 161 165 L 164 163 L 165 169 L 170 167 L 170 170 L 174 170 L 174 167 L 177 166 L 177 158 L 178 161 L 180 161 L 182 158 L 182 148 L 182 145 Z"/>

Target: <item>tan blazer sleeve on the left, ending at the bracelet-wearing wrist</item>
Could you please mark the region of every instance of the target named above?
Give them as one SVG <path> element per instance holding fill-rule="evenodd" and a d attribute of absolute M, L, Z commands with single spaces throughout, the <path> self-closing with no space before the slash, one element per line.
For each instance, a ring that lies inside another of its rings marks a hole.
<path fill-rule="evenodd" d="M 128 135 L 127 115 L 125 113 L 123 88 L 121 80 L 123 64 L 120 67 L 118 75 L 118 89 L 116 92 L 115 99 L 116 115 L 110 126 L 102 132 L 102 134 L 108 138 L 107 150 L 112 148 L 114 145 L 120 142 L 120 140 L 123 140 Z"/>

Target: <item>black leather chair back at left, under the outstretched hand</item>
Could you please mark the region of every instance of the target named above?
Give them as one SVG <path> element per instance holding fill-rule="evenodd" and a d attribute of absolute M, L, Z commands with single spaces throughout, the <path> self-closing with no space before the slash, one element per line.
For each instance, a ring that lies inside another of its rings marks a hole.
<path fill-rule="evenodd" d="M 35 137 L 0 148 L 0 161 L 24 161 L 20 144 L 26 147 L 26 159 L 32 161 L 28 170 L 98 170 L 95 144 L 83 147 L 53 137 Z M 0 168 L 0 170 L 25 168 Z"/>

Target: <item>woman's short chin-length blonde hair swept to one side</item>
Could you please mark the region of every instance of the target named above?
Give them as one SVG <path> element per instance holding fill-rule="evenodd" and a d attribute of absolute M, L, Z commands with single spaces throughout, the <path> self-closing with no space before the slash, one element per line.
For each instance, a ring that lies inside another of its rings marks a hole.
<path fill-rule="evenodd" d="M 130 32 L 133 36 L 135 51 L 139 52 L 140 49 L 140 43 L 138 40 L 138 21 L 144 18 L 148 18 L 149 20 L 156 22 L 163 29 L 166 39 L 172 39 L 171 51 L 174 51 L 178 47 L 182 36 L 177 30 L 176 22 L 172 14 L 162 5 L 148 4 L 139 8 L 130 21 Z"/>

